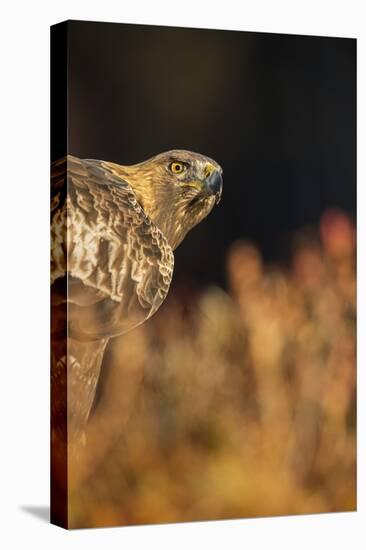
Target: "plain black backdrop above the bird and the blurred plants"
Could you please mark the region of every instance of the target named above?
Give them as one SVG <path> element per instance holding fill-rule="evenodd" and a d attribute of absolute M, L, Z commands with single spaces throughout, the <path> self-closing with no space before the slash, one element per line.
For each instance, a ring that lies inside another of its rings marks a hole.
<path fill-rule="evenodd" d="M 132 164 L 182 148 L 223 167 L 175 284 L 224 284 L 238 238 L 285 261 L 326 208 L 355 215 L 355 40 L 90 22 L 67 40 L 69 153 Z"/>

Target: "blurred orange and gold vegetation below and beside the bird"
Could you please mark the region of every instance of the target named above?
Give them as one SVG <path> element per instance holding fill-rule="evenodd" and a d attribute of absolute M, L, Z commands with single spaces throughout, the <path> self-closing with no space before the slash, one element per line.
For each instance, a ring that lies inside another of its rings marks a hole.
<path fill-rule="evenodd" d="M 112 342 L 72 527 L 355 509 L 353 224 L 327 211 L 288 266 L 236 242 L 227 281 Z"/>

